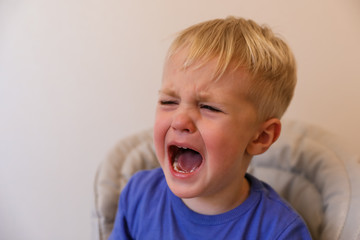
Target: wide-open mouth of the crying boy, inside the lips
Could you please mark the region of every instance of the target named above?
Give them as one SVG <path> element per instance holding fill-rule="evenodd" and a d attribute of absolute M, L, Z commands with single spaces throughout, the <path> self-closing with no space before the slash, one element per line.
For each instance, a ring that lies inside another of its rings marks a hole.
<path fill-rule="evenodd" d="M 203 162 L 201 154 L 190 148 L 172 145 L 169 147 L 169 153 L 175 172 L 192 173 Z"/>

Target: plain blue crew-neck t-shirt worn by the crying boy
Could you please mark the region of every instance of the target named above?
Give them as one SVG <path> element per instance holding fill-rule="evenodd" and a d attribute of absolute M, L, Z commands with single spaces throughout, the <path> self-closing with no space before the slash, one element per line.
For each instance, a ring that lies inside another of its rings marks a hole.
<path fill-rule="evenodd" d="M 160 168 L 135 174 L 120 196 L 111 240 L 311 239 L 305 223 L 266 183 L 247 174 L 250 194 L 219 215 L 189 209 Z"/>

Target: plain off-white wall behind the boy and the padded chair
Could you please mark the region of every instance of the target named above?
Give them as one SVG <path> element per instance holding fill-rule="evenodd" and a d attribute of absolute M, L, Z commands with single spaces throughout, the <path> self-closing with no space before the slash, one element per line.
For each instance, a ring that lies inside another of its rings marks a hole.
<path fill-rule="evenodd" d="M 286 117 L 358 147 L 358 0 L 0 0 L 0 239 L 89 239 L 95 169 L 152 125 L 172 35 L 227 15 L 292 46 Z"/>

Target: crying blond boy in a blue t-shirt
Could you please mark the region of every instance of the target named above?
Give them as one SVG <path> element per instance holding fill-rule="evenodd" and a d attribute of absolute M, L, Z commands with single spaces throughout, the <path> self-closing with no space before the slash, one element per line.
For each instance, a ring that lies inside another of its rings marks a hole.
<path fill-rule="evenodd" d="M 156 110 L 161 168 L 129 181 L 110 239 L 311 239 L 291 207 L 246 174 L 279 137 L 295 84 L 288 46 L 251 20 L 181 32 Z"/>

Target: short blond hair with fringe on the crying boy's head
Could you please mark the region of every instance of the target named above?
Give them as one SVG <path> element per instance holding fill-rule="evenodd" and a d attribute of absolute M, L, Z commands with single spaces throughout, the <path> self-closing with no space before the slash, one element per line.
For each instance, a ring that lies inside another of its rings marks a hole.
<path fill-rule="evenodd" d="M 296 63 L 288 45 L 270 28 L 243 18 L 214 19 L 181 31 L 168 57 L 185 47 L 184 68 L 218 58 L 215 80 L 230 68 L 245 69 L 250 76 L 247 97 L 259 120 L 282 117 L 294 95 Z"/>

